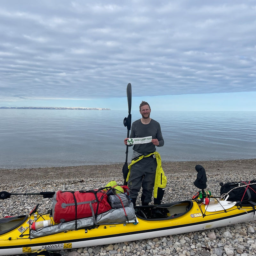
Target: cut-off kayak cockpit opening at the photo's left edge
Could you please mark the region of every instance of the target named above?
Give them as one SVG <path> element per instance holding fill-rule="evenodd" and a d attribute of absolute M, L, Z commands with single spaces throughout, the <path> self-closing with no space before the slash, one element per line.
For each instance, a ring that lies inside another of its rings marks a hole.
<path fill-rule="evenodd" d="M 0 235 L 18 228 L 28 219 L 28 215 L 19 215 L 0 219 Z"/>

